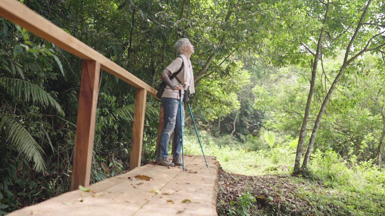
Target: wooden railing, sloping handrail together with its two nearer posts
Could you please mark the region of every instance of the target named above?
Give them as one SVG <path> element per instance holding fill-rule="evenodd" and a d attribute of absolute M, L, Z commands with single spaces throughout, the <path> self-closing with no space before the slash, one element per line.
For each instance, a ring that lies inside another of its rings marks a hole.
<path fill-rule="evenodd" d="M 100 69 L 136 87 L 130 170 L 140 166 L 147 93 L 157 91 L 16 0 L 0 0 L 0 16 L 83 59 L 71 190 L 89 186 Z"/>

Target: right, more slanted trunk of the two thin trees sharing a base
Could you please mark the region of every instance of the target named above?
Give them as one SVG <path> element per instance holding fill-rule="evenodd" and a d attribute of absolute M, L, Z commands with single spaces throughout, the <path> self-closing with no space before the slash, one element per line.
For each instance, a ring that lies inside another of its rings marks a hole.
<path fill-rule="evenodd" d="M 341 66 L 341 69 L 338 72 L 338 74 L 337 74 L 336 78 L 334 79 L 333 83 L 331 84 L 331 86 L 329 88 L 329 91 L 328 91 L 328 94 L 326 95 L 325 99 L 323 100 L 323 103 L 321 105 L 321 109 L 318 112 L 318 115 L 317 115 L 317 118 L 315 120 L 315 124 L 314 124 L 314 127 L 313 127 L 313 132 L 311 133 L 311 136 L 310 136 L 310 141 L 309 141 L 308 149 L 306 150 L 305 159 L 303 160 L 303 163 L 302 163 L 302 168 L 307 168 L 307 166 L 308 166 L 308 163 L 309 163 L 309 160 L 310 160 L 311 150 L 313 149 L 313 146 L 314 146 L 314 141 L 315 141 L 315 137 L 317 135 L 318 127 L 320 126 L 320 122 L 321 122 L 321 119 L 322 119 L 323 112 L 326 109 L 326 105 L 328 104 L 328 101 L 329 101 L 329 99 L 331 97 L 331 94 L 333 93 L 333 91 L 334 91 L 334 89 L 335 89 L 335 87 L 337 85 L 337 82 L 340 79 L 341 75 L 343 74 L 343 72 L 345 72 L 346 66 L 348 66 L 358 56 L 358 55 L 355 55 L 352 58 L 350 58 L 350 60 L 348 60 L 349 53 L 350 53 L 350 48 L 352 47 L 353 42 L 354 42 L 355 38 L 357 37 L 357 33 L 360 30 L 360 28 L 361 28 L 361 25 L 362 25 L 362 22 L 363 22 L 363 18 L 366 15 L 366 12 L 368 10 L 368 7 L 369 7 L 371 1 L 372 0 L 368 0 L 367 5 L 363 9 L 362 15 L 360 17 L 360 20 L 358 21 L 358 24 L 357 24 L 357 27 L 355 29 L 355 32 L 353 33 L 353 36 L 350 39 L 350 42 L 349 42 L 348 46 L 346 47 L 345 58 L 343 60 L 343 64 Z M 363 52 L 360 52 L 360 53 L 362 54 Z"/>

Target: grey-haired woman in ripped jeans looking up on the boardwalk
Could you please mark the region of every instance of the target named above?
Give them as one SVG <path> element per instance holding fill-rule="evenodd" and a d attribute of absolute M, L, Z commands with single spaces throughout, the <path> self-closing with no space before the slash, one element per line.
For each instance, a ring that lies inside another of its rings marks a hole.
<path fill-rule="evenodd" d="M 194 53 L 194 46 L 187 38 L 181 38 L 175 43 L 175 51 L 180 54 L 164 71 L 162 71 L 162 79 L 167 86 L 162 95 L 162 106 L 164 108 L 164 124 L 159 140 L 159 151 L 157 161 L 162 166 L 182 166 L 181 147 L 182 135 L 181 130 L 184 126 L 184 112 L 181 113 L 179 108 L 179 100 L 183 100 L 184 90 L 189 90 L 190 93 L 195 93 L 194 90 L 194 75 L 190 56 Z M 169 76 L 180 70 L 176 78 L 170 80 Z M 182 85 L 179 85 L 179 84 Z M 182 92 L 182 97 L 179 98 L 179 91 Z M 182 122 L 180 121 L 182 115 Z M 174 131 L 175 129 L 175 131 Z M 168 144 L 170 136 L 174 131 L 174 152 L 172 162 L 168 158 Z"/>

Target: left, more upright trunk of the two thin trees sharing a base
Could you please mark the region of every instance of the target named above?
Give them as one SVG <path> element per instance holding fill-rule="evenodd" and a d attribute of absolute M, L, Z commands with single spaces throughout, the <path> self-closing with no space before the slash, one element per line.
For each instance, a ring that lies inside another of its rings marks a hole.
<path fill-rule="evenodd" d="M 315 78 L 317 75 L 318 60 L 321 56 L 322 38 L 323 38 L 323 32 L 325 30 L 325 23 L 326 23 L 326 20 L 328 18 L 328 11 L 329 11 L 329 2 L 326 5 L 325 18 L 323 19 L 323 27 L 321 28 L 320 37 L 318 38 L 317 50 L 316 50 L 316 54 L 314 56 L 314 63 L 311 63 L 310 90 L 309 90 L 308 100 L 306 101 L 305 114 L 303 115 L 303 121 L 302 121 L 301 130 L 300 130 L 300 136 L 298 138 L 298 145 L 297 145 L 297 152 L 295 155 L 293 174 L 295 174 L 300 169 L 302 149 L 303 149 L 303 140 L 305 139 L 306 126 L 308 124 L 311 98 L 313 97 L 313 94 L 314 94 L 314 86 L 315 86 Z"/>

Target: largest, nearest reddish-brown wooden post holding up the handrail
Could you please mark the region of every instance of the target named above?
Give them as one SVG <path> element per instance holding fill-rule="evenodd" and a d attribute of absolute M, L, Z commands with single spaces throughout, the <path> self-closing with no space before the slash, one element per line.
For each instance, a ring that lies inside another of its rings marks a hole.
<path fill-rule="evenodd" d="M 78 189 L 79 185 L 87 187 L 90 184 L 99 74 L 99 62 L 83 60 L 71 191 Z"/>

